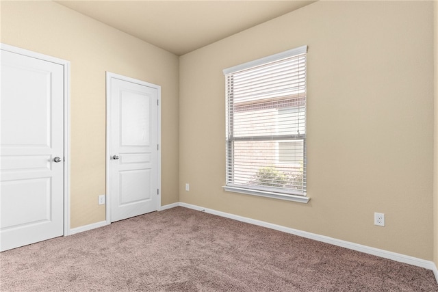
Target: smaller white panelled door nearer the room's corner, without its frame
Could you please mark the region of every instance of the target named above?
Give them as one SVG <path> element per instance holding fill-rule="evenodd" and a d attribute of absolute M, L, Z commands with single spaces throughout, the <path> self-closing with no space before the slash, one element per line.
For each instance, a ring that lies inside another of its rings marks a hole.
<path fill-rule="evenodd" d="M 108 72 L 107 90 L 108 194 L 114 222 L 158 209 L 160 88 Z"/>

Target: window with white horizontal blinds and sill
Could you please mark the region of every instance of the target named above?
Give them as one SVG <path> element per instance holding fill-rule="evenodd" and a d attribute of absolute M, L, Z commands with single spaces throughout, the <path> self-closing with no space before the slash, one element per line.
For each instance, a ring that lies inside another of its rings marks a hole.
<path fill-rule="evenodd" d="M 309 201 L 306 54 L 303 46 L 224 70 L 227 191 Z"/>

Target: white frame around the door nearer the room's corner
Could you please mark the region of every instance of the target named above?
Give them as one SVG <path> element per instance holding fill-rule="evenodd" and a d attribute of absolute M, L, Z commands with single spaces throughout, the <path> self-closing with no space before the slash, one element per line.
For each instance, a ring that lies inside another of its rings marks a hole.
<path fill-rule="evenodd" d="M 132 82 L 140 85 L 144 85 L 150 88 L 155 88 L 157 90 L 158 106 L 157 106 L 157 185 L 158 185 L 158 195 L 157 195 L 157 211 L 161 211 L 162 208 L 162 89 L 161 86 L 142 81 L 139 79 L 134 79 L 131 77 L 126 77 L 123 75 L 118 75 L 116 73 L 106 71 L 106 154 L 105 154 L 105 166 L 106 166 L 106 178 L 105 178 L 105 220 L 106 224 L 111 224 L 111 173 L 110 173 L 110 159 L 111 159 L 111 79 L 120 79 L 122 81 Z"/>

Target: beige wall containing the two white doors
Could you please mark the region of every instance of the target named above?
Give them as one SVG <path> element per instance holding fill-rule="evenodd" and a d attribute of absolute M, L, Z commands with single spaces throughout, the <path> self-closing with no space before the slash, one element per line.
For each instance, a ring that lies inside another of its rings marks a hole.
<path fill-rule="evenodd" d="M 162 204 L 178 202 L 176 55 L 51 1 L 1 1 L 1 42 L 70 61 L 72 228 L 105 220 L 105 71 L 162 86 Z"/>

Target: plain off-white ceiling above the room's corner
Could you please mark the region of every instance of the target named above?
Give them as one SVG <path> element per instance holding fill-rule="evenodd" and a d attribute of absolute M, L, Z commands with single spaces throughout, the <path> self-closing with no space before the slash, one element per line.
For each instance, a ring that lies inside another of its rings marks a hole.
<path fill-rule="evenodd" d="M 315 1 L 55 1 L 183 55 Z"/>

